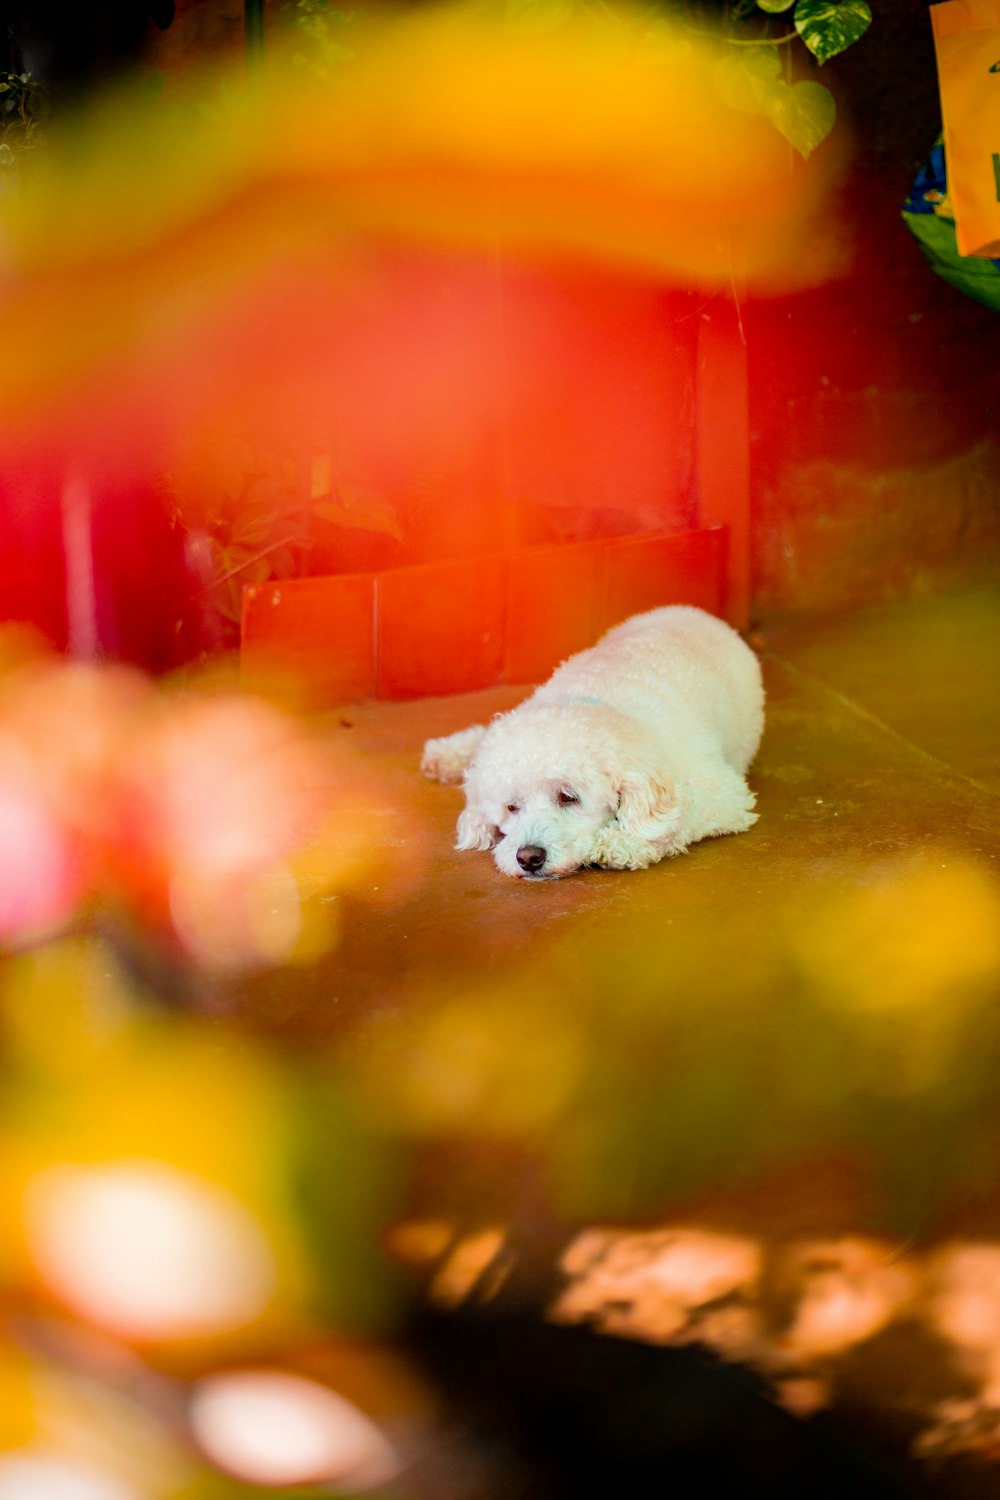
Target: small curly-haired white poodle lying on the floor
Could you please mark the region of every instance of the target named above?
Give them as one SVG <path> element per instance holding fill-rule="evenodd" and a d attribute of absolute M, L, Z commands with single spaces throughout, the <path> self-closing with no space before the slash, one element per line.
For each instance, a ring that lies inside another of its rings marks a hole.
<path fill-rule="evenodd" d="M 729 626 L 682 604 L 615 626 L 510 714 L 424 746 L 465 782 L 457 849 L 522 879 L 642 870 L 757 820 L 744 772 L 763 729 L 760 666 Z"/>

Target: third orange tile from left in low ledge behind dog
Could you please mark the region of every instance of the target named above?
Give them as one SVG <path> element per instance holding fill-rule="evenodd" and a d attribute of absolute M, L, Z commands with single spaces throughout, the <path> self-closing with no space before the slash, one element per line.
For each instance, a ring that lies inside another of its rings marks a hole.
<path fill-rule="evenodd" d="M 594 645 L 603 574 L 603 542 L 532 548 L 510 558 L 505 682 L 543 682 L 565 657 Z"/>

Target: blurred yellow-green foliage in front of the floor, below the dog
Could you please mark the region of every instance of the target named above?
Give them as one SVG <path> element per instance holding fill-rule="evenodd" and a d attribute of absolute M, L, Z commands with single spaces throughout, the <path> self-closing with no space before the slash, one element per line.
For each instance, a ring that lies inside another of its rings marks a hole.
<path fill-rule="evenodd" d="M 678 879 L 669 918 L 618 914 L 613 945 L 591 928 L 465 990 L 442 975 L 361 1070 L 375 1116 L 517 1144 L 571 1221 L 669 1216 L 840 1161 L 867 1228 L 924 1233 L 993 1182 L 1000 885 L 946 849 L 856 882 L 789 890 L 762 918 Z"/>

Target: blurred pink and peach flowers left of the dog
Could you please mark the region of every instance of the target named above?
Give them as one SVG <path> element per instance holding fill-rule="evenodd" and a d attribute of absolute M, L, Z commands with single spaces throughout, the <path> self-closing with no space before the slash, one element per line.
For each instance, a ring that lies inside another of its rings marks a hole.
<path fill-rule="evenodd" d="M 109 908 L 198 963 L 280 962 L 303 928 L 295 858 L 318 850 L 319 888 L 352 884 L 364 855 L 355 783 L 258 699 L 171 698 L 136 672 L 54 658 L 13 672 L 0 680 L 0 940 Z"/>

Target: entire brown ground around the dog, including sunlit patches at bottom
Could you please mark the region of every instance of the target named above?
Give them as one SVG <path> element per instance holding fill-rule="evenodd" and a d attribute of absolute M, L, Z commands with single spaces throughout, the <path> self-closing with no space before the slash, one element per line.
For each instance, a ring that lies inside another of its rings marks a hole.
<path fill-rule="evenodd" d="M 636 873 L 451 849 L 423 740 L 516 690 L 330 716 L 387 858 L 250 999 L 403 1150 L 432 1304 L 700 1342 L 1000 1492 L 1000 590 L 754 645 L 759 824 Z"/>

